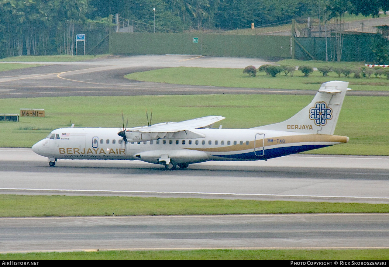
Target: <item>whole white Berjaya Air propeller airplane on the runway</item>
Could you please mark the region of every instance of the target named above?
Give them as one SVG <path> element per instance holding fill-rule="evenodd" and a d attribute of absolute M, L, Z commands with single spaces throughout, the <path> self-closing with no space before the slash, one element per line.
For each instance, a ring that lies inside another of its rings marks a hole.
<path fill-rule="evenodd" d="M 134 128 L 60 128 L 32 146 L 53 167 L 58 159 L 142 160 L 175 170 L 210 160 L 268 160 L 347 143 L 333 135 L 349 83 L 323 83 L 312 102 L 280 123 L 249 129 L 210 128 L 206 116 Z"/>

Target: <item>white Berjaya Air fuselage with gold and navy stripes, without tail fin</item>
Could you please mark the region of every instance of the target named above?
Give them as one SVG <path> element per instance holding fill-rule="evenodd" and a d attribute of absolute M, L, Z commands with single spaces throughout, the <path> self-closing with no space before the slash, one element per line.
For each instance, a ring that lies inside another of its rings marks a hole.
<path fill-rule="evenodd" d="M 259 129 L 196 129 L 203 138 L 161 138 L 125 143 L 121 128 L 60 128 L 35 145 L 35 153 L 53 159 L 143 160 L 175 163 L 209 160 L 267 160 L 348 141 L 337 135 Z"/>

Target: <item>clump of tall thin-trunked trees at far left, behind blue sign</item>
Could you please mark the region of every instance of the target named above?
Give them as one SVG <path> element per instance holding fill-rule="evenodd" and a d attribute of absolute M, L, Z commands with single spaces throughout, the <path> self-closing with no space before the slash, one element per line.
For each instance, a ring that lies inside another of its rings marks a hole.
<path fill-rule="evenodd" d="M 88 8 L 87 0 L 1 0 L 6 55 L 46 55 L 53 47 L 72 54 L 74 27 L 86 21 Z"/>

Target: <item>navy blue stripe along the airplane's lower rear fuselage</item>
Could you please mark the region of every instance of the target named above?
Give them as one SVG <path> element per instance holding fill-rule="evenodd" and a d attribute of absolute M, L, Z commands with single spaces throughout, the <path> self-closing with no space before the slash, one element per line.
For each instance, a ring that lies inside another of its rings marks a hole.
<path fill-rule="evenodd" d="M 277 158 L 280 156 L 291 155 L 294 153 L 299 153 L 299 152 L 308 151 L 312 149 L 325 148 L 326 146 L 332 146 L 332 145 L 286 146 L 281 148 L 265 149 L 264 156 L 256 156 L 254 154 L 254 151 L 249 153 L 235 154 L 235 155 L 212 155 L 212 156 L 231 158 L 231 159 L 242 159 L 242 160 L 261 160 L 261 159 Z"/>

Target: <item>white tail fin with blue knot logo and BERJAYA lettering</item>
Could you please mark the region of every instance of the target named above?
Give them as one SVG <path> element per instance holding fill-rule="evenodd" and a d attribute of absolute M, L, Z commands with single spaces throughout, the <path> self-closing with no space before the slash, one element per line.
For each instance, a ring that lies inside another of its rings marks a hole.
<path fill-rule="evenodd" d="M 286 121 L 254 129 L 333 135 L 349 83 L 323 83 L 312 102 Z"/>

